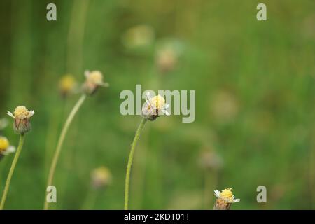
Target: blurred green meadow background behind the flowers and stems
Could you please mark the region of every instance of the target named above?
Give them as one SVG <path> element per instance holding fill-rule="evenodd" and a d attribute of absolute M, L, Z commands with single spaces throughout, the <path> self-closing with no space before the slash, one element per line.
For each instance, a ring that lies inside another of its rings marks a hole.
<path fill-rule="evenodd" d="M 48 3 L 57 21 L 46 20 Z M 267 21 L 256 20 L 258 3 Z M 52 153 L 79 98 L 62 98 L 59 79 L 71 73 L 82 83 L 85 69 L 102 71 L 110 87 L 73 120 L 52 209 L 123 209 L 141 117 L 120 114 L 119 94 L 136 84 L 196 90 L 196 120 L 146 125 L 130 209 L 212 209 L 213 191 L 228 187 L 241 199 L 232 209 L 315 209 L 315 1 L 6 0 L 0 23 L 0 118 L 20 104 L 35 111 L 6 209 L 43 208 Z M 176 49 L 167 71 L 157 62 L 165 44 Z M 10 126 L 3 135 L 18 144 Z M 1 194 L 13 156 L 0 161 Z M 95 191 L 90 172 L 102 165 L 112 183 Z M 267 203 L 256 201 L 260 185 Z"/>

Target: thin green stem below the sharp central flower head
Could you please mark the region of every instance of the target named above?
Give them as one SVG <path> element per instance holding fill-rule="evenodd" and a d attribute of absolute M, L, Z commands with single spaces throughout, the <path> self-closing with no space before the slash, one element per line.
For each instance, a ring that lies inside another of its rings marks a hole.
<path fill-rule="evenodd" d="M 132 159 L 134 158 L 134 151 L 136 149 L 137 142 L 139 141 L 141 131 L 144 129 L 145 124 L 146 124 L 146 118 L 142 118 L 141 123 L 137 129 L 136 135 L 134 136 L 134 141 L 132 142 L 132 148 L 130 150 L 130 155 L 129 155 L 128 164 L 127 164 L 126 181 L 125 181 L 125 210 L 128 210 L 129 183 L 130 183 Z"/>

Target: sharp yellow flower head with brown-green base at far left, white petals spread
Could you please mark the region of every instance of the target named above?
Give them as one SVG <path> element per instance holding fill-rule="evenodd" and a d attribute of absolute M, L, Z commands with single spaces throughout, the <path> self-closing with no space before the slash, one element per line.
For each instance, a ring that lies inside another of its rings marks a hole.
<path fill-rule="evenodd" d="M 13 128 L 19 134 L 25 134 L 31 130 L 31 123 L 29 122 L 34 111 L 29 111 L 25 106 L 17 106 L 15 111 L 7 112 L 8 116 L 14 118 Z"/>

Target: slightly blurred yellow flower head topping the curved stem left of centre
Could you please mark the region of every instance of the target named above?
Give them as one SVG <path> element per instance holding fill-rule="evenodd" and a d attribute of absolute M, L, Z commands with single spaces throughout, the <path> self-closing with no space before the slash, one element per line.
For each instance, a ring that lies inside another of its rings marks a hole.
<path fill-rule="evenodd" d="M 83 92 L 93 94 L 98 87 L 109 87 L 109 83 L 104 83 L 103 75 L 100 71 L 85 71 L 85 83 L 83 84 Z"/>

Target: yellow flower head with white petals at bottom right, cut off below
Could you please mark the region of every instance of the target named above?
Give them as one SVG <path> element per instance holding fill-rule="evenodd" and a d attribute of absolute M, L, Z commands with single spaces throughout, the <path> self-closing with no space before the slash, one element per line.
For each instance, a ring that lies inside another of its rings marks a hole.
<path fill-rule="evenodd" d="M 221 192 L 214 190 L 214 195 L 218 197 L 216 204 L 214 204 L 214 210 L 229 210 L 232 203 L 239 202 L 239 199 L 235 199 L 232 193 L 232 188 L 225 188 Z"/>

